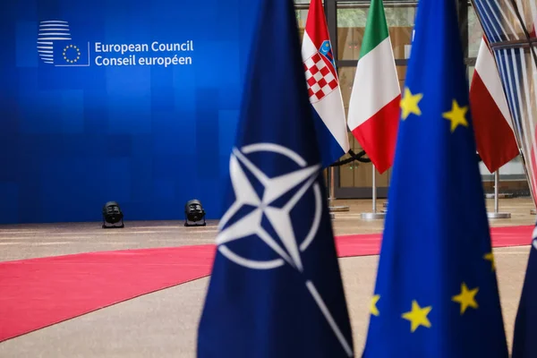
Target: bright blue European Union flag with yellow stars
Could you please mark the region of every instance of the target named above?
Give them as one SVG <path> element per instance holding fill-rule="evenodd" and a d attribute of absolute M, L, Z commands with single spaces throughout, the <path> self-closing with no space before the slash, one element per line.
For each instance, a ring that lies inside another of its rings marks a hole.
<path fill-rule="evenodd" d="M 457 25 L 419 2 L 364 357 L 507 357 Z"/>

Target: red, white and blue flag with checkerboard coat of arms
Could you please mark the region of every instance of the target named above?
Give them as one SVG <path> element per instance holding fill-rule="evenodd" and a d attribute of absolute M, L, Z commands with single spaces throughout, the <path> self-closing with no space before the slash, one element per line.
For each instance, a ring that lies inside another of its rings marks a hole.
<path fill-rule="evenodd" d="M 349 151 L 349 139 L 336 62 L 321 0 L 311 0 L 302 55 L 321 164 L 327 167 Z"/>

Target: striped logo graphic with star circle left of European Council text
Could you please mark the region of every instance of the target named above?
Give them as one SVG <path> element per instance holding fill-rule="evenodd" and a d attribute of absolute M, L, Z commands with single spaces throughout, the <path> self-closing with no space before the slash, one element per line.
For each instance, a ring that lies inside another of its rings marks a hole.
<path fill-rule="evenodd" d="M 90 42 L 84 45 L 73 42 L 67 21 L 40 21 L 38 54 L 45 64 L 56 67 L 87 67 L 90 65 Z"/>

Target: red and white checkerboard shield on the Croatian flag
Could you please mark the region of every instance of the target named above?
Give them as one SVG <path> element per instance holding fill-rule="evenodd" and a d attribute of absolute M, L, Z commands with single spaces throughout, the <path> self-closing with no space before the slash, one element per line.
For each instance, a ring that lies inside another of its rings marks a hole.
<path fill-rule="evenodd" d="M 337 87 L 337 78 L 328 69 L 319 53 L 304 61 L 310 102 L 320 101 Z"/>

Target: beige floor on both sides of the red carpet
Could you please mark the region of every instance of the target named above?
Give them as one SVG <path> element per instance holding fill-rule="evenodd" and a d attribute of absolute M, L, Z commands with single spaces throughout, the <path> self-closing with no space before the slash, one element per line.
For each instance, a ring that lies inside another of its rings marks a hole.
<path fill-rule="evenodd" d="M 379 200 L 382 208 L 383 200 Z M 383 221 L 366 222 L 360 213 L 371 200 L 340 200 L 350 211 L 336 214 L 336 234 L 378 233 Z M 493 208 L 492 200 L 488 206 Z M 510 219 L 491 226 L 533 225 L 530 199 L 500 201 Z M 419 213 L 416 213 L 419 215 Z M 216 222 L 185 228 L 183 222 L 125 222 L 122 230 L 103 230 L 100 223 L 0 226 L 0 261 L 84 251 L 109 251 L 213 243 Z M 531 238 L 528 238 L 528 243 Z M 520 297 L 529 246 L 495 250 L 507 338 Z M 362 352 L 374 285 L 377 256 L 339 260 L 354 329 L 354 347 Z M 26 336 L 0 343 L 0 357 L 194 357 L 196 328 L 209 278 L 202 278 L 125 303 L 95 311 Z"/>

